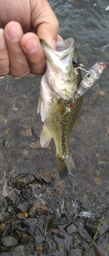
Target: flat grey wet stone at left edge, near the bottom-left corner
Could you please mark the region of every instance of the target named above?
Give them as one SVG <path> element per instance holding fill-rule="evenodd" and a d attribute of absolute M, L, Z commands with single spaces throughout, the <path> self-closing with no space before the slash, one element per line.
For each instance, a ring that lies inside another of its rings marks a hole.
<path fill-rule="evenodd" d="M 7 247 L 13 247 L 18 244 L 18 239 L 15 238 L 14 236 L 7 236 L 2 239 L 1 243 Z"/>

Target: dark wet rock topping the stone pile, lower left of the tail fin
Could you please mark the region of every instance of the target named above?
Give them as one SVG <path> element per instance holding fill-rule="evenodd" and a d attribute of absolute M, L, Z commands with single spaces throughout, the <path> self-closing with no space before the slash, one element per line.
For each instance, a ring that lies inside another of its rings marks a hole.
<path fill-rule="evenodd" d="M 30 175 L 24 175 L 22 177 L 19 177 L 19 176 L 15 177 L 13 180 L 11 180 L 11 183 L 13 184 L 14 187 L 20 187 L 28 183 L 31 183 L 34 180 L 35 180 L 35 176 L 30 174 Z"/>

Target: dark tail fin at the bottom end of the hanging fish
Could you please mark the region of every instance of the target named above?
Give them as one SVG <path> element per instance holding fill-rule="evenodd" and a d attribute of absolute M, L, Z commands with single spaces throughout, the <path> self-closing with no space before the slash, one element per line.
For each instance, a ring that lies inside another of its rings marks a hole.
<path fill-rule="evenodd" d="M 68 174 L 76 175 L 76 167 L 71 154 L 64 157 L 57 156 L 58 172 L 61 179 L 65 179 Z"/>

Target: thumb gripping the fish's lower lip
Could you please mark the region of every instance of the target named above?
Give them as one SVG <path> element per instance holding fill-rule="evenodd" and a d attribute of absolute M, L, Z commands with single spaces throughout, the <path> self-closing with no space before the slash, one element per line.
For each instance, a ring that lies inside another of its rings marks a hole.
<path fill-rule="evenodd" d="M 31 23 L 39 39 L 47 42 L 48 45 L 56 48 L 56 41 L 59 32 L 58 19 L 50 8 L 47 0 L 32 1 Z"/>

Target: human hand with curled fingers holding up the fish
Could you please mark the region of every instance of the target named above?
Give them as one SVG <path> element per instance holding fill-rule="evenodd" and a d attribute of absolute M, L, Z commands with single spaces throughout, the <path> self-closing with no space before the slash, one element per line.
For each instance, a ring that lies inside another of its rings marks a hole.
<path fill-rule="evenodd" d="M 57 38 L 62 40 L 47 0 L 0 0 L 0 6 L 0 76 L 43 74 L 45 55 L 39 39 L 54 49 Z"/>

